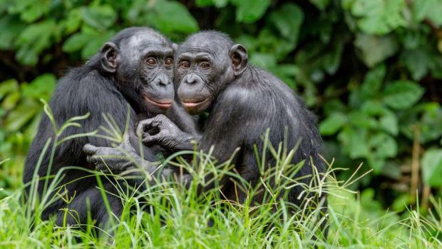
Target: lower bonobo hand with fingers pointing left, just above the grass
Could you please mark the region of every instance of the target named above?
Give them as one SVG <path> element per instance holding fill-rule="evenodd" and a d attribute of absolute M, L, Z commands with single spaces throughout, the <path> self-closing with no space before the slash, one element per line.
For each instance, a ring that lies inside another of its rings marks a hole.
<path fill-rule="evenodd" d="M 96 147 L 91 144 L 86 144 L 83 151 L 86 153 L 86 161 L 93 164 L 98 171 L 111 170 L 113 173 L 120 173 L 135 166 L 143 167 L 148 164 L 144 161 L 133 148 L 130 139 L 137 139 L 133 135 L 125 134 L 123 142 L 118 148 L 111 147 Z"/>

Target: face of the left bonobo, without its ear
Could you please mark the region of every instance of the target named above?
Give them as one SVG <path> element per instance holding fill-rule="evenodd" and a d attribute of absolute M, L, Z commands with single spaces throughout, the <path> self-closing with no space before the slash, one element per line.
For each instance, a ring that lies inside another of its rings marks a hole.
<path fill-rule="evenodd" d="M 145 30 L 123 39 L 115 48 L 115 78 L 121 87 L 133 87 L 151 113 L 172 106 L 173 49 L 165 37 Z"/>

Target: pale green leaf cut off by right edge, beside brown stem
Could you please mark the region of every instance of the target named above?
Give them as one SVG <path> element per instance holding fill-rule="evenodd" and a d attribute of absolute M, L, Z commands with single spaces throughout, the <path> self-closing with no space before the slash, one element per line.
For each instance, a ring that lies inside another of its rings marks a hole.
<path fill-rule="evenodd" d="M 422 157 L 423 182 L 432 187 L 442 186 L 442 149 L 431 148 Z"/>

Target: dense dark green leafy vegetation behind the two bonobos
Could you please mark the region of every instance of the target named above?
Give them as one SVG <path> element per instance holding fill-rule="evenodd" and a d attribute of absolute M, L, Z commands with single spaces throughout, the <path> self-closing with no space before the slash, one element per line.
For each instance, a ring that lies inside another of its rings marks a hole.
<path fill-rule="evenodd" d="M 324 157 L 350 168 L 338 178 L 348 179 L 361 162 L 356 174 L 372 170 L 348 186 L 363 190 L 361 200 L 371 203 L 364 211 L 390 207 L 419 228 L 419 212 L 437 209 L 442 195 L 441 12 L 442 0 L 0 0 L 0 161 L 9 158 L 0 164 L 0 198 L 21 187 L 39 99 L 51 97 L 67 68 L 124 27 L 152 26 L 177 42 L 217 29 L 318 114 Z M 407 211 L 410 205 L 420 209 Z M 361 245 L 373 234 L 359 225 L 347 232 Z M 373 233 L 389 240 L 385 230 Z"/>

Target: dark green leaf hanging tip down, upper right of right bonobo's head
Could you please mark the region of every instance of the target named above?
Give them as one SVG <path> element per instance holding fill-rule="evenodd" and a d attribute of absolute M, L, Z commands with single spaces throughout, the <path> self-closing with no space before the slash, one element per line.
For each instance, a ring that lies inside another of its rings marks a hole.
<path fill-rule="evenodd" d="M 296 4 L 282 5 L 276 11 L 272 11 L 269 20 L 282 37 L 297 44 L 299 29 L 304 20 L 304 13 Z M 294 46 L 296 47 L 296 45 Z"/>

